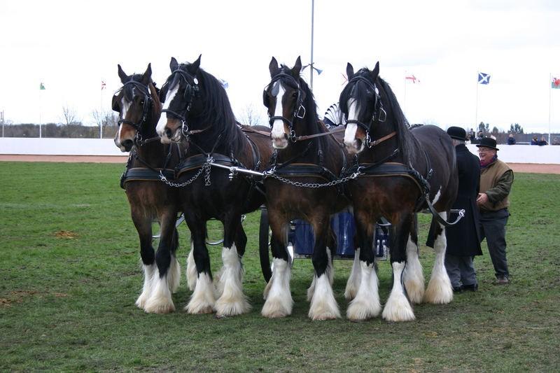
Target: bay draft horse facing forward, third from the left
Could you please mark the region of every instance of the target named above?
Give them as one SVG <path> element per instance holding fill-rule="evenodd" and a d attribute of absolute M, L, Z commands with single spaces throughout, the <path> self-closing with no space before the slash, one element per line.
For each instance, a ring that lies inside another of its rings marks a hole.
<path fill-rule="evenodd" d="M 315 274 L 307 292 L 311 301 L 308 316 L 313 320 L 327 320 L 340 317 L 332 292 L 328 244 L 332 249 L 334 242 L 328 242 L 332 238 L 330 216 L 348 205 L 349 200 L 340 197 L 340 185 L 310 186 L 337 181 L 345 155 L 341 144 L 318 120 L 313 93 L 301 78 L 301 69 L 300 57 L 292 68 L 279 67 L 272 57 L 269 64 L 272 80 L 263 92 L 276 151 L 273 176 L 265 178 L 274 271 L 265 289 L 262 315 L 276 318 L 292 312 L 287 232 L 290 220 L 304 219 L 313 227 L 315 237 L 312 256 Z"/>

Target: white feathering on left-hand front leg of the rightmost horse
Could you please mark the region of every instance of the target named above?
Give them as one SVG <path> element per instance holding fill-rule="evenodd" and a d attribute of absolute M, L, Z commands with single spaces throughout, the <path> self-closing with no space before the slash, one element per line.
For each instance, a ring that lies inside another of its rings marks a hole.
<path fill-rule="evenodd" d="M 356 295 L 346 309 L 346 317 L 352 321 L 364 321 L 381 313 L 379 281 L 373 263 L 367 265 L 366 262 L 358 262 L 357 267 L 356 278 L 360 282 L 356 285 Z"/>

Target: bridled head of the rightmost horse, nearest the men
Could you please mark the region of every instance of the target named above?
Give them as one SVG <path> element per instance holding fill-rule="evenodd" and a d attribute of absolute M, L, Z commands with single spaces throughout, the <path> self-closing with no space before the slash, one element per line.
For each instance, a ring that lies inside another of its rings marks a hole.
<path fill-rule="evenodd" d="M 361 153 L 370 143 L 370 132 L 374 124 L 386 121 L 379 88 L 376 81 L 379 77 L 379 62 L 372 71 L 363 68 L 354 73 L 353 66 L 346 65 L 348 84 L 340 94 L 340 110 L 346 116 L 346 132 L 344 146 L 348 153 Z"/>

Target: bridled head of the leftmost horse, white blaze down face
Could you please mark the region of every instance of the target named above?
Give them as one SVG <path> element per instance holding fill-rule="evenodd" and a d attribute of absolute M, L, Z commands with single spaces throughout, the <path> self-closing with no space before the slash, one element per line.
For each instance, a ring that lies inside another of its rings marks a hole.
<path fill-rule="evenodd" d="M 115 145 L 128 152 L 142 139 L 156 136 L 155 120 L 160 115 L 160 99 L 152 81 L 152 67 L 143 74 L 128 76 L 118 65 L 118 76 L 123 87 L 113 95 L 113 111 L 119 113 Z"/>

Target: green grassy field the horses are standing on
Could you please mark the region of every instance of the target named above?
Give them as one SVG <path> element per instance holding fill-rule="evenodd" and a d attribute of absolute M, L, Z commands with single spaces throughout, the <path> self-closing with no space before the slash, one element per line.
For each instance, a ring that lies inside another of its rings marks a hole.
<path fill-rule="evenodd" d="M 517 174 L 507 230 L 512 283 L 493 285 L 485 244 L 479 291 L 451 304 L 421 304 L 417 320 L 365 323 L 307 318 L 310 260 L 294 263 L 293 315 L 260 316 L 265 283 L 258 215 L 244 223 L 251 313 L 216 319 L 134 306 L 139 245 L 118 187 L 122 165 L 0 162 L 0 370 L 6 371 L 492 371 L 560 370 L 560 176 Z M 421 216 L 421 241 L 428 217 Z M 188 232 L 181 227 L 184 266 Z M 214 231 L 218 236 L 219 232 Z M 211 248 L 214 272 L 221 248 Z M 431 249 L 421 248 L 428 279 Z M 335 262 L 344 314 L 351 262 Z M 183 268 L 184 269 L 184 268 Z M 381 300 L 391 286 L 379 263 Z"/>

